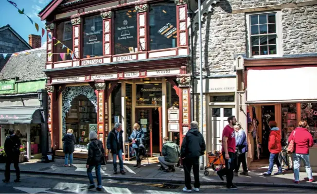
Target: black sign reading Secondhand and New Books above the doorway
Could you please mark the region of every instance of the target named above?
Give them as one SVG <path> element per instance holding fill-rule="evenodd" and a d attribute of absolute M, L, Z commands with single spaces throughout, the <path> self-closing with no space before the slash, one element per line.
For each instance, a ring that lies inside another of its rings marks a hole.
<path fill-rule="evenodd" d="M 137 105 L 162 105 L 162 84 L 137 85 Z"/>

